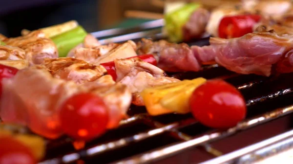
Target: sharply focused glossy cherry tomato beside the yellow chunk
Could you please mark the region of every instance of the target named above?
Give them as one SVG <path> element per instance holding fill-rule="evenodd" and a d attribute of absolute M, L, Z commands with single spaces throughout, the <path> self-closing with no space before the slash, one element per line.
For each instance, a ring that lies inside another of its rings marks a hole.
<path fill-rule="evenodd" d="M 245 118 L 241 93 L 223 80 L 208 80 L 195 89 L 189 100 L 193 116 L 205 126 L 226 129 Z"/>

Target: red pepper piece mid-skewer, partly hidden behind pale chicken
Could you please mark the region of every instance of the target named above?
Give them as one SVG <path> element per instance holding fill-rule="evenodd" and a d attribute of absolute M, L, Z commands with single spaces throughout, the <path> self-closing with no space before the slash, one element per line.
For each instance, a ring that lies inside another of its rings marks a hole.
<path fill-rule="evenodd" d="M 134 57 L 138 57 L 138 58 L 142 59 L 143 61 L 150 63 L 154 66 L 157 65 L 157 60 L 154 58 L 153 55 L 139 55 L 139 56 L 128 57 L 127 59 L 134 58 Z M 116 81 L 117 75 L 116 75 L 116 68 L 115 68 L 114 61 L 102 63 L 101 65 L 105 67 L 108 74 L 112 76 L 114 81 Z"/>

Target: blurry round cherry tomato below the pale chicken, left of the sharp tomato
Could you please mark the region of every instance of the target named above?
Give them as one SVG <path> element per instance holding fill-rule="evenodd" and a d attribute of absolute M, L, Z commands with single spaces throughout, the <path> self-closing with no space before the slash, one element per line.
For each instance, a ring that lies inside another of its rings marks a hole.
<path fill-rule="evenodd" d="M 61 106 L 60 122 L 67 135 L 77 140 L 90 140 L 105 132 L 108 109 L 95 94 L 76 94 Z"/>

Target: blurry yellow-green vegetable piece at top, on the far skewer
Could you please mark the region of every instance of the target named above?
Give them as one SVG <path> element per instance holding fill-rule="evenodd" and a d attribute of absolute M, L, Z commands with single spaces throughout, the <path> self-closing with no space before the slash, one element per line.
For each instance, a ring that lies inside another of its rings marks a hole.
<path fill-rule="evenodd" d="M 165 15 L 165 28 L 170 41 L 179 42 L 183 39 L 182 27 L 188 21 L 190 15 L 201 7 L 199 3 L 189 3 L 179 9 Z"/>

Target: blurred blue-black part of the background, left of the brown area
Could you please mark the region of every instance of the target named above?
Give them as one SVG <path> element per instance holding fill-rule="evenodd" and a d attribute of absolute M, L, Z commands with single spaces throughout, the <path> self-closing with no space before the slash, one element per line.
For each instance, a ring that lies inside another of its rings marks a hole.
<path fill-rule="evenodd" d="M 75 19 L 88 32 L 99 29 L 99 0 L 0 0 L 0 33 L 15 37 Z"/>

